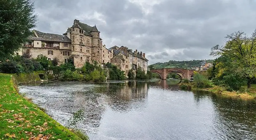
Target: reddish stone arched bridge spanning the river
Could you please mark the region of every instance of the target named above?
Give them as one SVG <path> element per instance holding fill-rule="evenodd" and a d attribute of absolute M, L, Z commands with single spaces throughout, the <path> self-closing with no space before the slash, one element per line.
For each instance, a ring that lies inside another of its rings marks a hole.
<path fill-rule="evenodd" d="M 166 79 L 169 73 L 175 73 L 180 75 L 181 79 L 187 78 L 192 79 L 194 75 L 194 70 L 184 69 L 184 68 L 161 68 L 161 69 L 151 69 L 150 72 L 160 75 L 161 79 Z"/>

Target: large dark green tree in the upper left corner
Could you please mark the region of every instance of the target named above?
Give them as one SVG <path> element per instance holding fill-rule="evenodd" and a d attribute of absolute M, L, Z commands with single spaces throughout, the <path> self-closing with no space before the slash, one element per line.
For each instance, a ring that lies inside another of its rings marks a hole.
<path fill-rule="evenodd" d="M 30 0 L 0 1 L 0 60 L 21 48 L 36 27 L 36 18 Z"/>

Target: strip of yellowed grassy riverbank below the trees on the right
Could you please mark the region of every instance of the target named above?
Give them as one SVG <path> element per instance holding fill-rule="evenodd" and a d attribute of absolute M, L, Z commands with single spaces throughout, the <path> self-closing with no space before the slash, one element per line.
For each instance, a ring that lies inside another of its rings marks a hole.
<path fill-rule="evenodd" d="M 224 88 L 219 86 L 214 86 L 212 88 L 192 88 L 191 90 L 197 91 L 209 91 L 214 94 L 222 94 L 228 97 L 241 98 L 244 100 L 256 99 L 256 88 L 251 87 L 250 92 L 239 92 L 239 91 L 226 91 Z"/>

